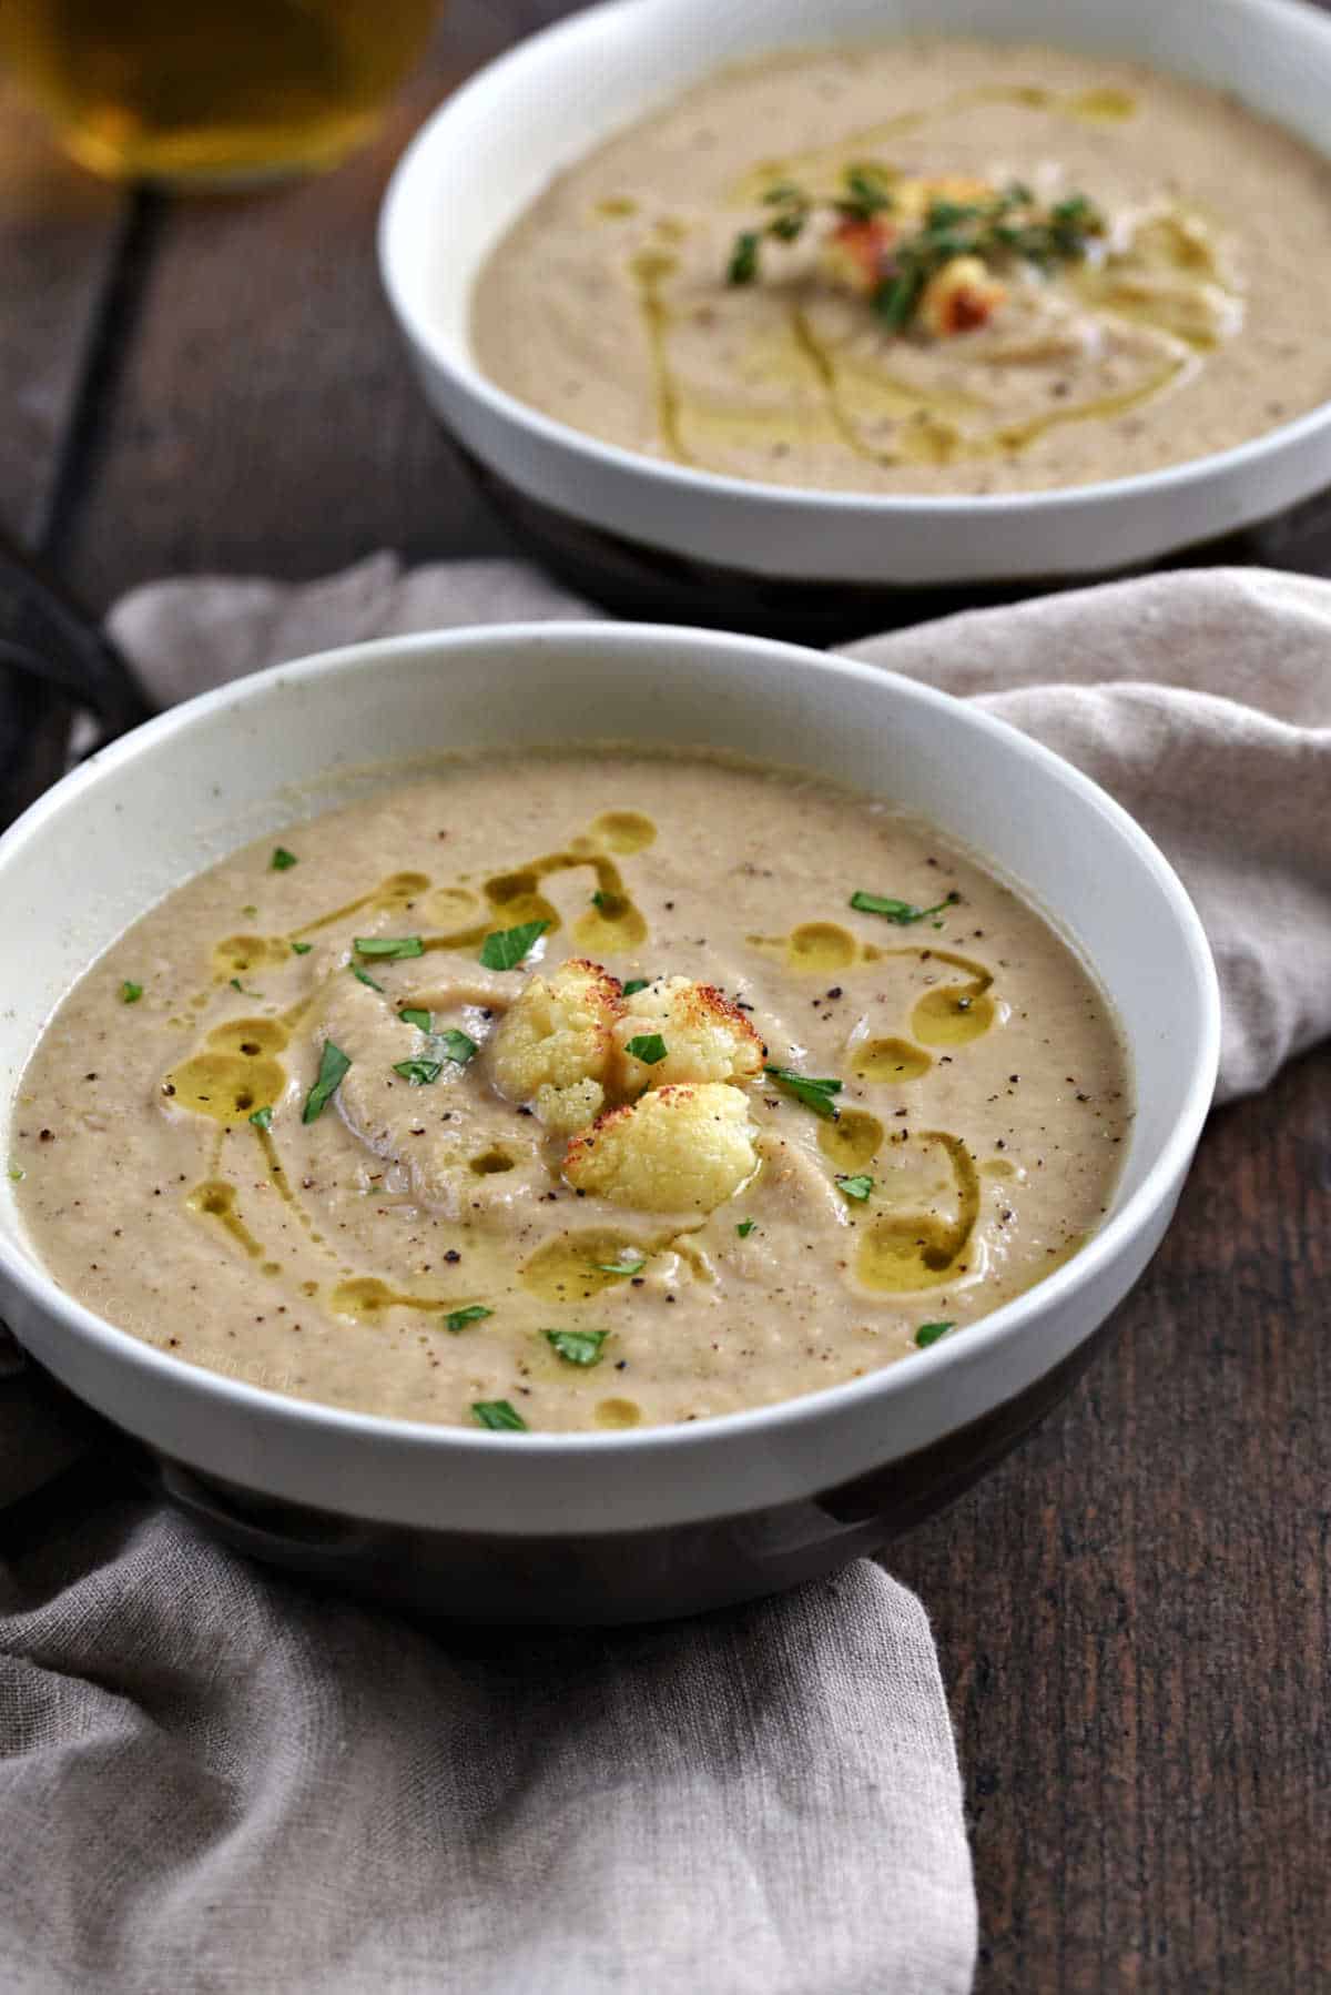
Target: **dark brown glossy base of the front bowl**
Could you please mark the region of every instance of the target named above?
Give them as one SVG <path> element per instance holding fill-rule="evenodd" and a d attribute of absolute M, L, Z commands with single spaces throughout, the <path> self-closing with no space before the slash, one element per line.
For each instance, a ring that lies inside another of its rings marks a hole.
<path fill-rule="evenodd" d="M 567 1538 L 409 1530 L 275 1502 L 166 1456 L 144 1456 L 142 1468 L 233 1550 L 417 1620 L 551 1628 L 674 1620 L 836 1572 L 946 1508 L 1064 1398 L 1115 1323 L 1026 1393 L 918 1454 L 776 1510 L 663 1530 Z"/>

